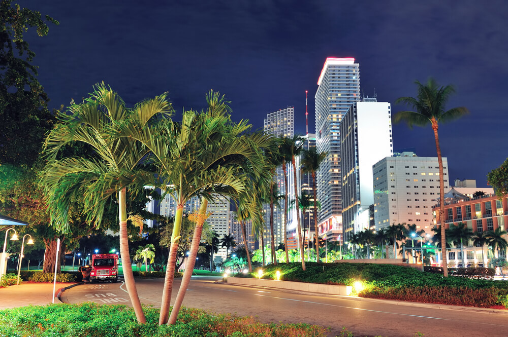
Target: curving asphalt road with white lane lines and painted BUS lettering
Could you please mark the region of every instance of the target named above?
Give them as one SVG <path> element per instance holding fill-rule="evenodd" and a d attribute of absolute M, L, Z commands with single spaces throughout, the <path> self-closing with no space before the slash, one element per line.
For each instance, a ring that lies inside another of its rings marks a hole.
<path fill-rule="evenodd" d="M 330 327 L 330 335 L 342 327 L 355 337 L 382 335 L 413 337 L 506 337 L 508 312 L 476 308 L 383 301 L 376 299 L 320 296 L 215 283 L 217 278 L 193 278 L 184 306 L 218 313 L 256 316 L 262 322 L 309 323 Z M 162 279 L 137 279 L 141 302 L 160 307 Z M 175 279 L 173 301 L 180 280 Z M 65 303 L 92 301 L 130 305 L 123 282 L 84 284 L 63 292 Z M 172 303 L 173 303 L 172 301 Z"/>

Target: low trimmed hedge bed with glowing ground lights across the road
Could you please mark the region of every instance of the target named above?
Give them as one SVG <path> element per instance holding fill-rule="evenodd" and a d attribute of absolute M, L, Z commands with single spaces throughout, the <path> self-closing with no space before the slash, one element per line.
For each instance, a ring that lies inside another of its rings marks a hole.
<path fill-rule="evenodd" d="M 306 267 L 303 271 L 300 263 L 270 265 L 264 269 L 262 278 L 275 279 L 279 270 L 284 281 L 350 286 L 362 281 L 364 289 L 358 293 L 360 296 L 477 307 L 504 305 L 506 301 L 503 303 L 502 298 L 508 295 L 508 282 L 443 278 L 436 273 L 394 265 L 308 262 Z M 258 277 L 258 271 L 249 277 Z"/>

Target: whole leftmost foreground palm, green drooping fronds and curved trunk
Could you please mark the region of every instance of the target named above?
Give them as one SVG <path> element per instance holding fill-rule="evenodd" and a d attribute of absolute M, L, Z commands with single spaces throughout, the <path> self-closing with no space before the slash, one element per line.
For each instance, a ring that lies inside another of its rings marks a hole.
<path fill-rule="evenodd" d="M 135 130 L 136 137 L 144 137 L 152 130 L 160 130 L 160 125 L 169 123 L 172 112 L 166 94 L 127 108 L 118 94 L 102 83 L 96 85 L 91 97 L 83 103 L 72 102 L 67 111 L 57 113 L 60 123 L 51 130 L 44 143 L 48 163 L 41 173 L 41 185 L 55 228 L 69 231 L 68 209 L 72 199 L 78 196 L 84 199 L 83 213 L 87 222 L 99 227 L 104 210 L 110 205 L 108 200 L 118 196 L 123 275 L 139 323 L 146 323 L 146 318 L 129 256 L 126 194 L 128 190 L 132 194 L 142 191 L 144 185 L 156 181 L 153 181 L 154 172 L 141 166 L 148 159 L 149 149 L 132 137 L 132 132 L 121 135 L 119 130 Z M 153 135 L 153 141 L 161 139 L 160 135 Z M 77 143 L 93 149 L 90 157 L 56 159 L 61 156 L 63 147 Z M 139 216 L 130 218 L 142 223 Z"/>

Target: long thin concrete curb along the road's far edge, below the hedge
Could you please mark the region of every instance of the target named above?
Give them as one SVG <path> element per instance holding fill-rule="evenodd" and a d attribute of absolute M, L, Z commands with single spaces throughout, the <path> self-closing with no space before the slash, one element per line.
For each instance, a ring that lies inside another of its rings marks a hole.
<path fill-rule="evenodd" d="M 452 305 L 446 305 L 446 304 L 434 304 L 434 303 L 422 303 L 422 302 L 407 302 L 407 301 L 398 301 L 396 299 L 381 299 L 381 298 L 369 298 L 369 297 L 358 297 L 358 296 L 347 296 L 347 295 L 330 295 L 330 294 L 320 293 L 320 292 L 299 291 L 299 290 L 293 290 L 293 289 L 264 287 L 264 286 L 259 286 L 259 285 L 228 283 L 227 281 L 215 281 L 215 283 L 229 284 L 229 285 L 238 286 L 238 287 L 255 288 L 255 289 L 279 290 L 279 291 L 288 292 L 288 293 L 297 293 L 297 294 L 302 294 L 302 295 L 314 295 L 314 296 L 322 296 L 322 297 L 329 297 L 329 298 L 342 297 L 342 298 L 352 299 L 353 301 L 360 301 L 360 302 L 362 302 L 362 301 L 377 302 L 377 303 L 385 303 L 385 304 L 398 305 L 398 306 L 423 307 L 423 308 L 455 310 L 455 311 L 468 311 L 468 312 L 478 312 L 478 313 L 483 313 L 483 314 L 504 314 L 504 315 L 508 316 L 508 310 L 503 310 L 503 309 L 452 306 Z"/>

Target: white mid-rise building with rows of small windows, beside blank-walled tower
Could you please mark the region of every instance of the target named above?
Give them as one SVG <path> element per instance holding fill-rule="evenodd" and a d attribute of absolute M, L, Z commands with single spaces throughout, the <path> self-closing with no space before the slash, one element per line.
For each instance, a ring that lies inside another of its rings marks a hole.
<path fill-rule="evenodd" d="M 448 191 L 448 160 L 443 161 L 444 191 Z M 439 198 L 437 157 L 417 157 L 403 152 L 372 167 L 374 179 L 375 230 L 392 223 L 416 224 L 417 230 L 432 234 L 432 206 Z"/>

